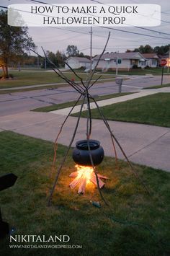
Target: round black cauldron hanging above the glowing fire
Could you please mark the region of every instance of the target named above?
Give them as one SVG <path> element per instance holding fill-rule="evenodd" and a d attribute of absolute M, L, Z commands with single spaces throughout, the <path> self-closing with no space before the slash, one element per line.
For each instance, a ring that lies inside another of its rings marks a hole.
<path fill-rule="evenodd" d="M 89 139 L 89 148 L 94 166 L 102 163 L 104 150 L 102 146 L 100 146 L 100 142 Z M 92 166 L 90 152 L 87 140 L 77 141 L 76 147 L 73 149 L 73 161 L 79 165 Z"/>

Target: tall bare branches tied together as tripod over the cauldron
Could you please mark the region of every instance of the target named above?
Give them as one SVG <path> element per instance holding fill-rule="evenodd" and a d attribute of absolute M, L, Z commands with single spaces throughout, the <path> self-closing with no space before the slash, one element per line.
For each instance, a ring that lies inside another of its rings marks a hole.
<path fill-rule="evenodd" d="M 68 149 L 66 150 L 66 153 L 63 156 L 61 164 L 58 167 L 58 170 L 57 170 L 56 176 L 55 176 L 55 180 L 53 182 L 53 187 L 50 190 L 50 195 L 49 195 L 49 198 L 48 198 L 48 206 L 50 206 L 51 200 L 53 198 L 53 193 L 54 193 L 55 187 L 56 187 L 57 182 L 58 182 L 58 177 L 61 174 L 61 170 L 63 168 L 63 164 L 64 164 L 64 162 L 66 162 L 66 157 L 68 156 L 68 151 L 71 149 L 71 146 L 73 144 L 73 140 L 74 140 L 74 138 L 76 136 L 77 129 L 79 128 L 79 121 L 80 121 L 80 118 L 81 118 L 81 112 L 82 112 L 84 104 L 86 104 L 87 112 L 88 112 L 87 118 L 86 118 L 86 140 L 87 140 L 87 146 L 88 146 L 88 150 L 89 150 L 89 157 L 90 157 L 90 161 L 91 161 L 91 167 L 93 168 L 94 174 L 95 174 L 96 179 L 97 179 L 97 188 L 99 190 L 99 195 L 102 198 L 102 200 L 104 201 L 104 203 L 107 206 L 109 206 L 109 204 L 107 203 L 107 201 L 105 200 L 105 198 L 104 198 L 104 196 L 102 194 L 101 188 L 99 187 L 99 178 L 97 176 L 97 171 L 96 171 L 96 168 L 94 167 L 94 162 L 93 162 L 93 159 L 92 159 L 92 156 L 91 156 L 91 149 L 90 149 L 90 144 L 89 144 L 89 139 L 91 138 L 91 123 L 92 123 L 90 100 L 92 100 L 94 102 L 94 104 L 96 105 L 97 110 L 99 111 L 99 114 L 101 115 L 102 120 L 104 122 L 104 125 L 106 126 L 106 128 L 107 128 L 107 130 L 109 132 L 109 135 L 110 135 L 110 138 L 111 138 L 111 141 L 112 141 L 113 151 L 114 151 L 114 154 L 115 154 L 115 161 L 117 163 L 117 168 L 118 168 L 118 162 L 117 162 L 117 151 L 116 151 L 115 144 L 117 144 L 117 146 L 120 148 L 120 151 L 122 151 L 123 156 L 125 156 L 125 159 L 128 162 L 128 164 L 130 165 L 130 169 L 132 170 L 133 175 L 135 175 L 135 177 L 138 178 L 138 180 L 140 180 L 140 182 L 143 185 L 143 187 L 145 188 L 145 190 L 149 193 L 148 187 L 146 187 L 146 185 L 143 182 L 143 180 L 140 179 L 140 177 L 138 176 L 138 173 L 135 172 L 135 169 L 134 169 L 133 165 L 131 164 L 130 160 L 128 159 L 128 156 L 125 154 L 125 151 L 122 149 L 122 146 L 120 145 L 119 141 L 117 140 L 117 138 L 115 137 L 114 133 L 112 132 L 112 130 L 111 130 L 110 126 L 109 126 L 109 123 L 107 122 L 107 119 L 104 117 L 104 114 L 102 113 L 102 110 L 100 109 L 99 105 L 97 104 L 97 101 L 94 99 L 94 97 L 91 96 L 91 94 L 89 92 L 89 89 L 91 87 L 93 87 L 94 84 L 101 78 L 101 76 L 99 76 L 97 79 L 92 81 L 94 73 L 97 70 L 97 66 L 99 64 L 99 61 L 101 60 L 101 58 L 102 58 L 102 56 L 103 56 L 103 54 L 104 54 L 104 52 L 105 52 L 105 50 L 107 48 L 107 43 L 109 42 L 109 37 L 110 37 L 110 32 L 109 32 L 109 35 L 107 37 L 107 42 L 104 45 L 104 49 L 102 50 L 102 53 L 100 54 L 99 59 L 97 60 L 96 65 L 94 66 L 94 69 L 90 72 L 90 74 L 87 77 L 85 82 L 83 81 L 83 79 L 81 79 L 81 76 L 79 76 L 79 74 L 77 74 L 76 71 L 74 71 L 71 68 L 71 66 L 68 65 L 68 63 L 66 63 L 68 68 L 71 69 L 73 74 L 81 81 L 80 84 L 76 83 L 75 81 L 72 81 L 71 79 L 68 79 L 68 77 L 65 74 L 63 74 L 63 72 L 60 69 L 58 69 L 58 67 L 55 66 L 55 64 L 52 61 L 50 61 L 50 59 L 45 54 L 45 50 L 43 50 L 43 48 L 42 48 L 43 53 L 45 55 L 45 58 L 48 61 L 48 63 L 50 64 L 50 68 L 56 74 L 58 74 L 59 77 L 61 77 L 64 81 L 66 81 L 69 85 L 71 85 L 71 87 L 73 87 L 73 89 L 75 89 L 76 92 L 79 92 L 79 97 L 76 100 L 76 103 L 73 105 L 73 107 L 71 108 L 70 112 L 68 113 L 68 115 L 66 116 L 65 120 L 63 121 L 63 124 L 61 125 L 60 131 L 58 132 L 58 136 L 55 139 L 52 172 L 55 169 L 55 160 L 56 160 L 56 154 L 57 154 L 57 149 L 58 149 L 58 138 L 61 135 L 61 132 L 63 130 L 63 126 L 66 124 L 66 121 L 68 120 L 68 117 L 71 115 L 71 112 L 73 111 L 74 107 L 76 107 L 76 105 L 79 104 L 79 101 L 82 100 L 80 111 L 79 111 L 79 116 L 78 116 L 78 118 L 76 120 L 76 125 L 75 125 L 74 131 L 73 131 L 73 135 L 72 135 L 70 144 L 68 145 Z M 32 51 L 35 52 L 34 50 L 32 50 Z"/>

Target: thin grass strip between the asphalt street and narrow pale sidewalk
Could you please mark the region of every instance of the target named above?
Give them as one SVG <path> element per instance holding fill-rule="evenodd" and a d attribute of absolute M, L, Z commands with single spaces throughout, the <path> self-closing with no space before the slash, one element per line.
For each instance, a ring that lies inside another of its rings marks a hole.
<path fill-rule="evenodd" d="M 107 99 L 120 97 L 120 96 L 124 96 L 124 95 L 128 95 L 128 94 L 132 94 L 132 93 L 134 93 L 134 92 L 122 92 L 122 93 L 102 95 L 102 96 L 95 97 L 95 100 L 107 100 Z M 79 105 L 81 104 L 81 102 L 82 102 L 82 100 L 79 101 Z M 47 106 L 47 107 L 37 107 L 32 111 L 35 111 L 35 112 L 50 112 L 50 111 L 53 111 L 53 110 L 61 110 L 62 108 L 73 107 L 73 105 L 75 103 L 76 103 L 76 101 L 72 101 L 72 102 L 65 102 L 65 103 L 61 103 L 61 104 L 57 104 L 57 105 L 50 105 L 50 106 Z"/>

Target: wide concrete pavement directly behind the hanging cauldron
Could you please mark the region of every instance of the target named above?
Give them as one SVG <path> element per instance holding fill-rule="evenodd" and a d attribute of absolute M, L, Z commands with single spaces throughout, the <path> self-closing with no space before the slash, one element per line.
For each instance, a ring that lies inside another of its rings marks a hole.
<path fill-rule="evenodd" d="M 22 112 L 0 118 L 0 131 L 14 131 L 34 138 L 55 141 L 66 117 L 49 112 Z M 58 142 L 68 145 L 77 118 L 70 117 Z M 132 162 L 170 171 L 170 129 L 153 125 L 109 121 L 109 125 Z M 86 138 L 86 119 L 81 118 L 76 138 Z M 101 141 L 105 155 L 114 156 L 112 142 L 102 120 L 92 120 L 91 138 Z M 117 149 L 120 159 L 124 159 Z"/>

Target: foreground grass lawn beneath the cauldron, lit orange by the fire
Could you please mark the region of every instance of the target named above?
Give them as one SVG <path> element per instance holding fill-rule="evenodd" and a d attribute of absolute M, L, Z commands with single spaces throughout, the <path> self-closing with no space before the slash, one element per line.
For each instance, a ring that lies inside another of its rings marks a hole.
<path fill-rule="evenodd" d="M 0 175 L 13 172 L 18 177 L 14 187 L 1 191 L 0 198 L 3 219 L 15 227 L 13 237 L 15 234 L 47 237 L 67 234 L 71 240 L 66 244 L 82 245 L 82 249 L 76 250 L 9 249 L 9 239 L 4 239 L 0 241 L 0 255 L 169 255 L 168 172 L 135 165 L 151 191 L 148 195 L 127 163 L 120 161 L 117 170 L 115 159 L 105 157 L 97 169 L 109 177 L 102 191 L 112 206 L 110 212 L 93 186 L 89 185 L 84 195 L 78 195 L 77 188 L 70 190 L 68 175 L 75 171 L 70 154 L 55 189 L 53 204 L 47 207 L 53 184 L 49 177 L 53 144 L 6 131 L 0 133 L 0 143 Z M 58 164 L 64 151 L 66 147 L 59 146 Z M 90 200 L 99 200 L 102 207 L 92 206 Z M 126 224 L 120 224 L 121 221 Z"/>

